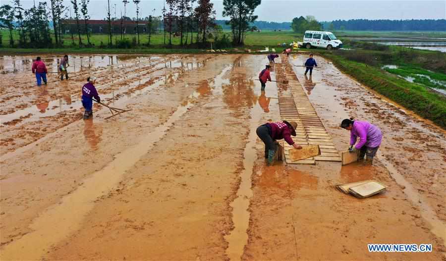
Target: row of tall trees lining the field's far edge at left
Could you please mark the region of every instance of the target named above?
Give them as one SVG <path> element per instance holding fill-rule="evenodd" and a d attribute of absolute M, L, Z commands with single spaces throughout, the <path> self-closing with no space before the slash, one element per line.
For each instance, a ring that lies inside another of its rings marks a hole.
<path fill-rule="evenodd" d="M 122 0 L 124 6 L 124 15 L 120 18 L 120 39 L 117 41 L 126 41 L 125 23 L 130 20 L 126 14 L 126 7 L 133 3 L 136 6 L 136 43 L 140 44 L 140 22 L 148 24 L 148 37 L 152 33 L 152 22 L 156 17 L 149 15 L 140 21 L 140 1 L 141 0 Z M 51 47 L 53 45 L 63 45 L 64 29 L 66 21 L 75 21 L 74 30 L 71 27 L 72 44 L 74 39 L 78 38 L 78 45 L 92 46 L 91 26 L 89 25 L 90 15 L 88 10 L 90 0 L 70 0 L 70 6 L 64 6 L 63 0 L 49 0 L 47 2 L 38 2 L 30 9 L 24 9 L 20 0 L 13 0 L 13 5 L 4 4 L 0 6 L 0 27 L 9 32 L 9 44 L 14 46 L 13 32 L 19 32 L 19 47 Z M 230 19 L 226 21 L 232 31 L 232 41 L 235 45 L 243 45 L 245 34 L 251 28 L 257 16 L 254 15 L 255 8 L 261 3 L 261 0 L 223 0 L 223 16 Z M 73 11 L 73 13 L 71 13 Z M 155 9 L 153 9 L 153 12 Z M 199 35 L 196 42 L 206 43 L 209 30 L 218 30 L 215 23 L 216 11 L 214 4 L 210 0 L 165 0 L 165 6 L 162 9 L 162 25 L 164 28 L 164 44 L 172 45 L 172 36 L 178 36 L 180 45 L 193 44 L 193 35 Z M 50 19 L 53 23 L 53 30 L 50 28 Z M 112 45 L 113 32 L 112 23 L 116 24 L 116 18 L 111 18 L 110 0 L 108 0 L 107 17 L 109 45 Z M 113 21 L 114 20 L 114 21 Z M 113 22 L 112 22 L 113 21 Z M 124 26 L 123 26 L 124 24 Z M 221 27 L 220 27 L 221 30 Z M 76 34 L 76 37 L 74 36 Z M 87 43 L 82 42 L 82 36 L 86 35 Z M 167 38 L 168 35 L 168 38 Z M 189 37 L 190 36 L 190 37 Z M 54 37 L 54 39 L 53 39 Z M 53 42 L 53 40 L 55 40 Z M 166 42 L 167 41 L 167 42 Z"/>

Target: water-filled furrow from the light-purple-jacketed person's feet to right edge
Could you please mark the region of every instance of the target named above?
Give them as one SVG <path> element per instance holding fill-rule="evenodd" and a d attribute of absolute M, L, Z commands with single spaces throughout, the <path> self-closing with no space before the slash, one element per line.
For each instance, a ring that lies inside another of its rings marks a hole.
<path fill-rule="evenodd" d="M 404 186 L 404 194 L 412 201 L 412 203 L 420 208 L 420 213 L 423 218 L 431 225 L 431 232 L 443 240 L 443 245 L 446 247 L 446 223 L 441 221 L 434 209 L 429 204 L 425 203 L 420 195 L 413 189 L 412 185 L 404 179 L 404 177 L 396 170 L 396 168 L 385 158 L 378 153 L 377 158 L 382 162 L 390 172 L 390 176 L 400 186 Z"/>

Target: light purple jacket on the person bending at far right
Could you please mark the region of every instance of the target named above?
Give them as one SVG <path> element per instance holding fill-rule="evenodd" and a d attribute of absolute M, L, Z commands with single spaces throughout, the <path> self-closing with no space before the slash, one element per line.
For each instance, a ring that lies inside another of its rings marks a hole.
<path fill-rule="evenodd" d="M 357 137 L 359 137 L 358 143 L 356 143 Z M 382 139 L 383 135 L 377 126 L 367 121 L 355 120 L 353 122 L 350 131 L 350 146 L 353 146 L 356 143 L 355 148 L 357 150 L 361 149 L 364 145 L 369 148 L 376 148 L 381 145 Z"/>

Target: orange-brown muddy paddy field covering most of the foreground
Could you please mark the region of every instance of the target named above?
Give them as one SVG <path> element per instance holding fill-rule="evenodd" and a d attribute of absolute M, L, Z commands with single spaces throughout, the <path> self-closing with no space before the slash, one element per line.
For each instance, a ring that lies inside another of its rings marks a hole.
<path fill-rule="evenodd" d="M 446 260 L 445 131 L 322 57 L 312 77 L 287 72 L 337 150 L 342 119 L 381 128 L 373 166 L 266 166 L 255 129 L 280 113 L 278 86 L 256 80 L 265 55 L 70 56 L 70 80 L 41 87 L 32 58 L 0 57 L 1 260 Z M 59 57 L 42 58 L 56 72 Z M 132 110 L 106 120 L 94 104 L 82 120 L 89 75 L 106 104 Z M 387 191 L 334 188 L 366 179 Z M 375 243 L 433 251 L 369 253 Z"/>

